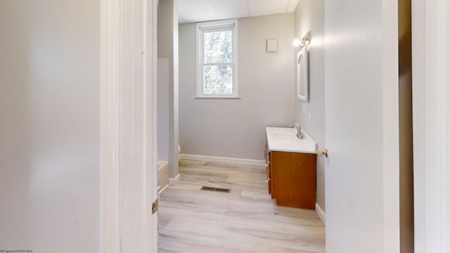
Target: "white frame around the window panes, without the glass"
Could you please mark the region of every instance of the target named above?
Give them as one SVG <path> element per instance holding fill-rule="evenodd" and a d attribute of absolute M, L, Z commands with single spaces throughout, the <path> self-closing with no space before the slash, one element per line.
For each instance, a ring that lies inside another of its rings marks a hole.
<path fill-rule="evenodd" d="M 231 64 L 233 67 L 233 75 L 231 82 L 233 85 L 233 92 L 231 94 L 205 94 L 204 92 L 204 75 L 203 67 L 205 65 L 205 32 L 219 32 L 219 31 L 231 31 L 232 32 L 232 52 L 233 61 Z M 196 24 L 196 60 L 197 60 L 197 96 L 195 98 L 240 98 L 238 89 L 238 20 L 220 20 L 212 22 L 199 22 Z"/>

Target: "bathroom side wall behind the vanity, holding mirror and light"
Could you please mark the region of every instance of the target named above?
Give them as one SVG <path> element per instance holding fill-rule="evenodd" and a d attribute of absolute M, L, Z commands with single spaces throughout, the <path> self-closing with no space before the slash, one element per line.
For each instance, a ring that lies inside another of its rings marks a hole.
<path fill-rule="evenodd" d="M 325 6 L 323 0 L 301 0 L 295 11 L 294 36 L 301 39 L 310 31 L 309 100 L 295 99 L 295 119 L 317 142 L 325 147 Z M 316 202 L 325 211 L 325 159 L 317 158 Z"/>

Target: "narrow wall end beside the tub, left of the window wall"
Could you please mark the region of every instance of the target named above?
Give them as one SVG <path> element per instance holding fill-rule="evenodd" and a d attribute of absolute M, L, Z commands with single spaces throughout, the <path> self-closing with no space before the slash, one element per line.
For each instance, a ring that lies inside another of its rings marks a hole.
<path fill-rule="evenodd" d="M 179 85 L 178 1 L 160 0 L 158 6 L 158 58 L 169 59 L 169 177 L 178 175 Z M 160 86 L 160 84 L 158 84 Z M 161 89 L 160 87 L 158 89 Z M 164 99 L 164 98 L 163 98 Z M 164 139 L 158 141 L 166 141 Z"/>

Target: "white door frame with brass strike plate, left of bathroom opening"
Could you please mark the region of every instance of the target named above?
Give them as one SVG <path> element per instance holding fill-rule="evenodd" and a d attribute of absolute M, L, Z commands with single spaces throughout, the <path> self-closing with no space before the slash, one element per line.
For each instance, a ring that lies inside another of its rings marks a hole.
<path fill-rule="evenodd" d="M 100 252 L 157 252 L 157 0 L 101 0 Z"/>

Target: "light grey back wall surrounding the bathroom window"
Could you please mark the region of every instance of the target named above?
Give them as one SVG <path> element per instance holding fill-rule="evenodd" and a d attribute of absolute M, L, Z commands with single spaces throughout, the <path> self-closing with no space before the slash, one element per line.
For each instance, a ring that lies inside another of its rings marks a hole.
<path fill-rule="evenodd" d="M 182 153 L 264 159 L 264 126 L 294 122 L 294 15 L 239 22 L 240 99 L 195 99 L 195 24 L 179 26 Z M 266 39 L 279 40 L 266 54 Z"/>

